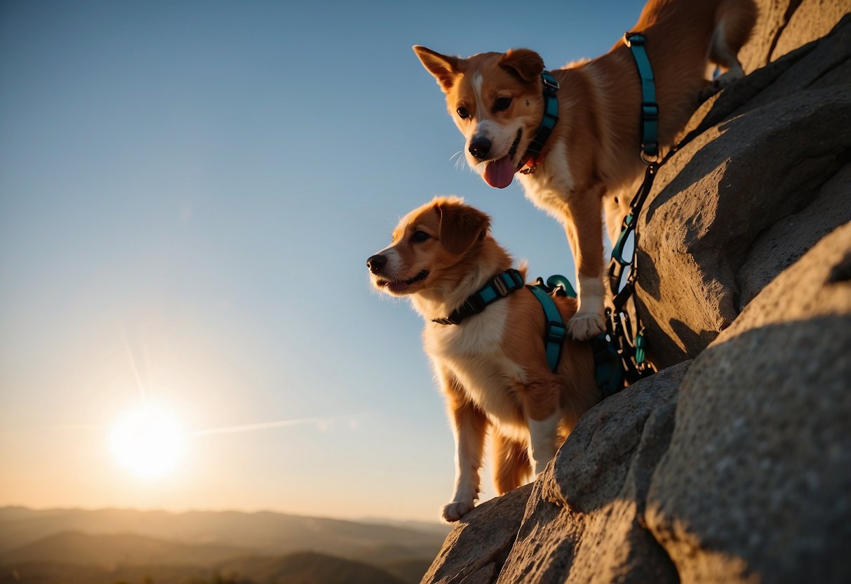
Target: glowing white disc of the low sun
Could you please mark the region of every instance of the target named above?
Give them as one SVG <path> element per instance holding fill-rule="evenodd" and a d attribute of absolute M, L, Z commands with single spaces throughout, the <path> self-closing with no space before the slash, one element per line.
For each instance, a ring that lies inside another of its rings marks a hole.
<path fill-rule="evenodd" d="M 149 404 L 130 410 L 117 421 L 110 447 L 121 466 L 135 475 L 162 478 L 184 454 L 186 433 L 173 410 Z"/>

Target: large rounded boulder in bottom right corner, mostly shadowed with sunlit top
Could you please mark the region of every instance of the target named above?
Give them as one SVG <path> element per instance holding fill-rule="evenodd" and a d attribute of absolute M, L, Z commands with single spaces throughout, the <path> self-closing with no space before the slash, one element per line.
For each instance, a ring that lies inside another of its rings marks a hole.
<path fill-rule="evenodd" d="M 851 223 L 768 284 L 680 386 L 646 517 L 683 581 L 847 581 L 849 347 Z"/>

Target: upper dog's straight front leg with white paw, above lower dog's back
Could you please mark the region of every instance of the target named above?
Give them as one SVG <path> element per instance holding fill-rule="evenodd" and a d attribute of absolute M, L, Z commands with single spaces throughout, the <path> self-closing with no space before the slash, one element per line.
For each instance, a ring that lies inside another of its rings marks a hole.
<path fill-rule="evenodd" d="M 568 211 L 573 226 L 565 231 L 574 250 L 578 272 L 580 308 L 568 321 L 568 333 L 577 341 L 591 339 L 603 332 L 603 194 L 606 187 L 594 186 L 586 192 L 572 193 Z"/>

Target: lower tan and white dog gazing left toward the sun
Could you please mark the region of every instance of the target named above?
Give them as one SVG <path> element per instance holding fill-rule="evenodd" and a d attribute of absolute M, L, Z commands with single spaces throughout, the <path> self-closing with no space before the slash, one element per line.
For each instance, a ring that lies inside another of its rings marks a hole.
<path fill-rule="evenodd" d="M 409 298 L 426 321 L 423 345 L 455 438 L 454 494 L 443 518 L 457 521 L 478 498 L 488 429 L 502 495 L 524 484 L 533 465 L 543 471 L 580 415 L 600 401 L 591 348 L 566 338 L 550 369 L 545 312 L 524 286 L 525 267 L 512 269 L 488 215 L 463 199 L 435 198 L 408 213 L 367 266 L 376 289 Z M 489 286 L 499 292 L 484 295 Z M 484 306 L 472 301 L 480 292 Z M 576 301 L 554 301 L 569 322 Z"/>

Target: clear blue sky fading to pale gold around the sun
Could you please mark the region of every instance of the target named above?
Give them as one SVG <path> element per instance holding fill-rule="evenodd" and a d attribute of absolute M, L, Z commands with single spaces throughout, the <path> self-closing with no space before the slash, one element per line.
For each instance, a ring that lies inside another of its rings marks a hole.
<path fill-rule="evenodd" d="M 453 445 L 421 321 L 364 261 L 452 193 L 531 275 L 574 266 L 520 186 L 456 163 L 411 45 L 555 68 L 642 5 L 0 3 L 0 505 L 437 518 Z M 106 435 L 152 399 L 190 444 L 143 481 Z"/>

